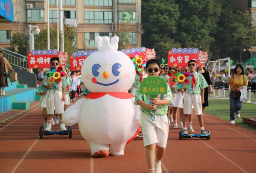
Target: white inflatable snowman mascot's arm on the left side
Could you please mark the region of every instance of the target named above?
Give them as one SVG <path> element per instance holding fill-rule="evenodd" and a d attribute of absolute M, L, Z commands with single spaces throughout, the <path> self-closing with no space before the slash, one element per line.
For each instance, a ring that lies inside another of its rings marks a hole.
<path fill-rule="evenodd" d="M 67 110 L 64 112 L 62 116 L 62 120 L 65 125 L 73 126 L 74 124 L 78 123 L 81 116 L 82 109 L 84 107 L 85 100 L 86 98 L 77 100 L 77 102 L 74 105 L 67 108 Z"/>

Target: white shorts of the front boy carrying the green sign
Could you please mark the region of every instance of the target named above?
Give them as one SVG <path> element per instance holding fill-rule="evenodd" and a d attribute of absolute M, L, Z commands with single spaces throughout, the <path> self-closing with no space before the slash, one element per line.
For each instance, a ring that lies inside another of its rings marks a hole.
<path fill-rule="evenodd" d="M 144 147 L 151 144 L 167 146 L 169 125 L 166 115 L 155 115 L 155 121 L 152 121 L 152 115 L 141 113 L 141 127 Z"/>

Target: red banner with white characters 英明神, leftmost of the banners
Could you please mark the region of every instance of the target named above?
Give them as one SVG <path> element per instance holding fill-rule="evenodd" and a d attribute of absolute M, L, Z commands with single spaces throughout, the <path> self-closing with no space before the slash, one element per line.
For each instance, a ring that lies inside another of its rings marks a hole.
<path fill-rule="evenodd" d="M 32 50 L 27 54 L 28 67 L 31 69 L 50 68 L 51 58 L 58 57 L 58 50 Z"/>

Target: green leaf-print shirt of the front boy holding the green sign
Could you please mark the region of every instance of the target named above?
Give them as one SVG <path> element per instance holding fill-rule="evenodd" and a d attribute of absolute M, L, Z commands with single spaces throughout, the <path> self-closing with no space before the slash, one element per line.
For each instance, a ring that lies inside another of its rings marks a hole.
<path fill-rule="evenodd" d="M 152 104 L 151 99 L 152 99 L 152 97 L 150 97 L 150 95 L 141 94 L 141 92 L 140 92 L 140 85 L 139 85 L 138 88 L 137 88 L 136 94 L 135 94 L 135 104 L 138 105 L 137 104 L 137 100 L 142 100 L 146 104 Z M 160 95 L 160 99 L 159 100 L 164 100 L 164 99 L 169 100 L 170 101 L 170 105 L 172 104 L 172 93 L 171 93 L 170 87 L 168 87 L 168 93 L 167 94 Z M 152 115 L 152 114 L 166 115 L 167 111 L 168 111 L 168 106 L 167 105 L 158 104 L 155 110 L 148 110 L 148 109 L 146 109 L 144 107 L 140 107 L 140 110 L 141 110 L 141 112 L 143 112 L 143 113 L 145 113 L 147 115 Z"/>

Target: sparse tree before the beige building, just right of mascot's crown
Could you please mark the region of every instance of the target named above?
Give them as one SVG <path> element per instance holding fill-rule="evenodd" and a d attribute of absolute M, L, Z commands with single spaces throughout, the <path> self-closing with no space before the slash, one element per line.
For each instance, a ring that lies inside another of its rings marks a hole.
<path fill-rule="evenodd" d="M 112 33 L 113 36 L 118 36 L 119 37 L 119 42 L 118 42 L 118 50 L 126 50 L 125 43 L 130 43 L 132 36 L 128 32 L 128 24 L 127 23 L 121 23 L 119 25 L 119 30 L 115 30 Z"/>

